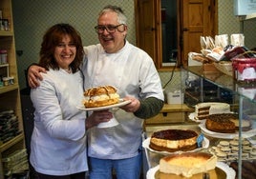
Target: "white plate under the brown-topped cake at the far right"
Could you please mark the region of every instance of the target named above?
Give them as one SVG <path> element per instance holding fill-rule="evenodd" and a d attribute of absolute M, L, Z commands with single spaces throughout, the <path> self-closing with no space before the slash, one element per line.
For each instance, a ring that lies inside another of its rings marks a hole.
<path fill-rule="evenodd" d="M 255 126 L 255 124 L 253 126 Z M 252 129 L 249 129 L 247 131 L 242 131 L 242 137 L 248 138 L 248 137 L 254 136 L 256 133 L 256 128 L 253 128 L 253 126 L 252 126 Z M 211 131 L 209 129 L 206 129 L 205 122 L 201 123 L 199 125 L 199 128 L 203 131 L 203 134 L 210 137 L 214 137 L 214 138 L 233 139 L 239 136 L 238 131 L 236 131 L 235 133 L 221 133 L 221 132 L 216 132 L 216 131 Z"/>

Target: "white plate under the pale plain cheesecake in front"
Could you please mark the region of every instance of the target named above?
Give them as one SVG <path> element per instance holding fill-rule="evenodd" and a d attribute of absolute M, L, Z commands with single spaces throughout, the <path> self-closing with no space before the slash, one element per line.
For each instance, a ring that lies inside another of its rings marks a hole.
<path fill-rule="evenodd" d="M 236 176 L 236 171 L 223 162 L 217 162 L 216 167 L 224 170 L 226 174 L 226 179 L 234 179 Z M 147 179 L 155 179 L 156 172 L 160 169 L 160 166 L 156 166 L 155 168 L 149 169 L 147 171 Z"/>

